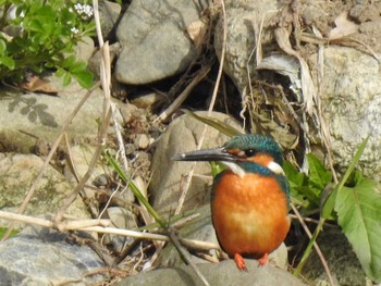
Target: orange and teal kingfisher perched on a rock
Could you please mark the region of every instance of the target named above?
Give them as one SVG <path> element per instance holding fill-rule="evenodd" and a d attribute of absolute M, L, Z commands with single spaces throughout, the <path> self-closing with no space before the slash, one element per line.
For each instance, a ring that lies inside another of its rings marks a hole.
<path fill-rule="evenodd" d="M 239 271 L 247 270 L 244 258 L 267 264 L 290 231 L 290 188 L 281 147 L 267 136 L 245 134 L 222 147 L 180 153 L 173 160 L 220 161 L 226 166 L 214 177 L 211 191 L 219 244 Z"/>

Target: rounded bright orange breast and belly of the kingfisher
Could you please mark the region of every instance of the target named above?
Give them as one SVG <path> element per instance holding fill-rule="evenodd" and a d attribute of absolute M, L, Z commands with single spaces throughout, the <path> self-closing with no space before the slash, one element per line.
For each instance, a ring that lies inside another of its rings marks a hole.
<path fill-rule="evenodd" d="M 290 217 L 285 192 L 275 178 L 258 174 L 241 178 L 226 171 L 213 191 L 213 226 L 228 254 L 262 257 L 282 244 Z"/>

